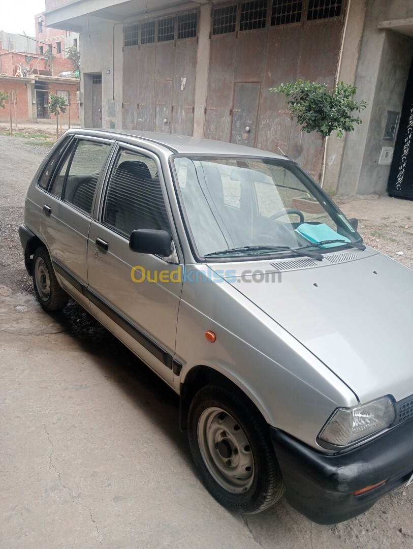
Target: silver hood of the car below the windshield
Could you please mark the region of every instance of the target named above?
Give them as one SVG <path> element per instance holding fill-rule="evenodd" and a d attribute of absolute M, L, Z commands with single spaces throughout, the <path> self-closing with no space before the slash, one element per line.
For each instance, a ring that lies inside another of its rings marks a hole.
<path fill-rule="evenodd" d="M 355 259 L 332 264 L 326 254 L 312 261 L 316 266 L 281 272 L 278 282 L 254 282 L 239 270 L 227 281 L 361 402 L 386 394 L 403 399 L 413 394 L 413 271 L 369 249 L 349 255 Z M 278 262 L 267 265 L 274 272 Z"/>

